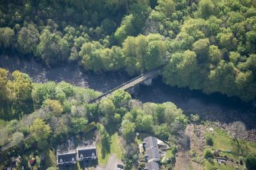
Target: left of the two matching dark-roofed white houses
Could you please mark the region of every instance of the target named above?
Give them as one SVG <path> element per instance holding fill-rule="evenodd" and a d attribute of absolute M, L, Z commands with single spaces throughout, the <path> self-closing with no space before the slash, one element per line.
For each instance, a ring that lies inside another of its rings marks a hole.
<path fill-rule="evenodd" d="M 57 148 L 57 165 L 71 164 L 76 164 L 76 149 L 73 139 Z"/>

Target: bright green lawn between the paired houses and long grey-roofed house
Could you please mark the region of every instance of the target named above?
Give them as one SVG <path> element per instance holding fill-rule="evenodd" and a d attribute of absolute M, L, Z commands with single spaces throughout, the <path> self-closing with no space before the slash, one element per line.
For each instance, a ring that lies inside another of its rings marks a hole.
<path fill-rule="evenodd" d="M 112 136 L 110 136 L 109 144 L 110 144 L 109 152 L 105 152 L 105 156 L 103 157 L 102 143 L 100 143 L 100 142 L 97 143 L 98 162 L 100 165 L 107 165 L 109 156 L 111 156 L 112 154 L 115 154 L 119 160 L 122 159 L 122 150 L 121 150 L 120 143 L 118 140 L 118 133 L 114 133 L 114 134 L 112 134 Z"/>

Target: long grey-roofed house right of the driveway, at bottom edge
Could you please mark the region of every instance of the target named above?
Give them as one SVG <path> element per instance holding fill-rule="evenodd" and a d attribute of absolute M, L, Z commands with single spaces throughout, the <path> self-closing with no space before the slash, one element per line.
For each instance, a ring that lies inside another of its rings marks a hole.
<path fill-rule="evenodd" d="M 148 136 L 142 142 L 142 147 L 146 152 L 144 159 L 146 160 L 146 170 L 159 170 L 158 162 L 160 162 L 160 153 L 157 146 L 157 138 Z"/>

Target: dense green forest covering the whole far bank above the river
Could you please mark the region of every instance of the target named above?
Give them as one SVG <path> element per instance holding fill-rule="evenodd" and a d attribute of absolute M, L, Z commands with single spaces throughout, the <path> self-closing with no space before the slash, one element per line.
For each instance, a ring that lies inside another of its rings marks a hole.
<path fill-rule="evenodd" d="M 167 85 L 256 97 L 254 0 L 1 2 L 2 50 L 93 72 L 164 66 Z"/>

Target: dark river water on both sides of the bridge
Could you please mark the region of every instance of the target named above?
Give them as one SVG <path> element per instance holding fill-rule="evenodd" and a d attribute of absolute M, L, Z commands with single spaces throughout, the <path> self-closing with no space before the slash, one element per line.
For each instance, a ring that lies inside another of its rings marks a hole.
<path fill-rule="evenodd" d="M 33 57 L 26 59 L 18 57 L 18 55 L 9 57 L 2 54 L 0 56 L 0 67 L 8 69 L 10 72 L 16 69 L 25 72 L 31 76 L 34 82 L 65 81 L 70 82 L 72 85 L 92 88 L 102 92 L 109 91 L 133 78 L 121 72 L 104 72 L 100 74 L 84 72 L 76 64 L 65 64 L 47 68 L 42 63 L 37 63 Z M 160 76 L 154 79 L 150 86 L 139 85 L 133 98 L 143 102 L 155 103 L 171 101 L 184 111 L 194 111 L 196 113 L 203 111 L 203 113 L 208 114 L 213 112 L 215 115 L 219 115 L 219 117 L 223 117 L 222 114 L 225 113 L 229 118 L 225 117 L 223 121 L 227 121 L 233 116 L 238 117 L 234 114 L 239 114 L 243 120 L 251 119 L 251 115 L 245 117 L 245 113 L 254 112 L 251 104 L 246 104 L 238 98 L 227 98 L 219 93 L 205 95 L 201 91 L 191 91 L 188 88 L 170 87 L 161 82 Z"/>

